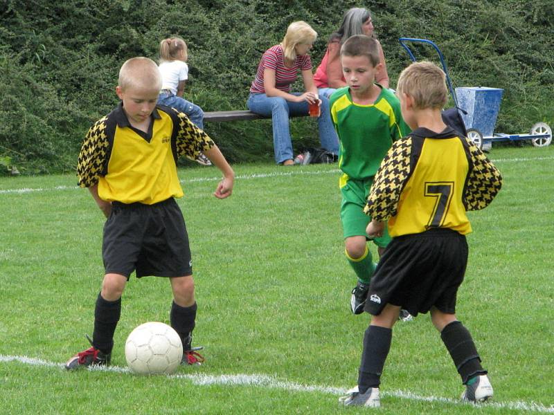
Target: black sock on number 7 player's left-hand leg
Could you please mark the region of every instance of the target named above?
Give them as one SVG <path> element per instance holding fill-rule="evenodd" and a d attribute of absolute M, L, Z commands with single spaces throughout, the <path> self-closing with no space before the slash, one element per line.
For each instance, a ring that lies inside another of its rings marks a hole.
<path fill-rule="evenodd" d="M 366 330 L 358 374 L 358 390 L 361 394 L 370 387 L 379 387 L 392 338 L 392 329 L 386 327 L 369 326 Z"/>

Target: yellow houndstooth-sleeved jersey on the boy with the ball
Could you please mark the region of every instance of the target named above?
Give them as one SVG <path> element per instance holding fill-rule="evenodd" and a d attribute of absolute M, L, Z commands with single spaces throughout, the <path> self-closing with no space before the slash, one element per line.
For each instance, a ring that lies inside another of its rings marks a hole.
<path fill-rule="evenodd" d="M 78 159 L 80 187 L 98 183 L 105 201 L 152 205 L 183 196 L 177 158 L 195 158 L 214 143 L 184 113 L 158 106 L 148 133 L 129 123 L 123 106 L 88 131 Z"/>

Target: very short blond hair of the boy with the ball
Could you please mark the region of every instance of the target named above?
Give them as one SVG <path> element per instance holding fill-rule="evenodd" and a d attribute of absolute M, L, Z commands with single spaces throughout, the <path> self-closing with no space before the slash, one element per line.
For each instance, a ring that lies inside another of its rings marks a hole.
<path fill-rule="evenodd" d="M 161 73 L 158 65 L 148 57 L 127 59 L 119 70 L 118 85 L 123 91 L 144 86 L 161 89 Z"/>

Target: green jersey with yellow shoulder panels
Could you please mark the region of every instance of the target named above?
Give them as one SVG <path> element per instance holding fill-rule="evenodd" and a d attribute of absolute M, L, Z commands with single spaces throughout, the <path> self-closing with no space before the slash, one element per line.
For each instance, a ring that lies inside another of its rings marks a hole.
<path fill-rule="evenodd" d="M 344 172 L 341 187 L 350 178 L 375 176 L 393 142 L 410 132 L 398 98 L 379 87 L 381 93 L 370 105 L 353 102 L 348 86 L 331 95 L 331 118 L 340 140 L 339 168 Z"/>

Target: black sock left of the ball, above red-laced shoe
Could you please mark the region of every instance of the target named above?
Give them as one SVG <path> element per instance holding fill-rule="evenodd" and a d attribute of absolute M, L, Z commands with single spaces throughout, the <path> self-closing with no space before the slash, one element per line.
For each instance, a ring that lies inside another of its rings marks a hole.
<path fill-rule="evenodd" d="M 94 332 L 92 344 L 102 353 L 111 353 L 114 347 L 114 332 L 121 315 L 121 299 L 107 301 L 100 293 L 94 308 Z"/>

